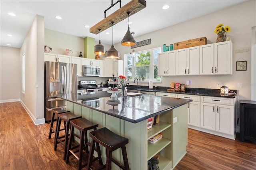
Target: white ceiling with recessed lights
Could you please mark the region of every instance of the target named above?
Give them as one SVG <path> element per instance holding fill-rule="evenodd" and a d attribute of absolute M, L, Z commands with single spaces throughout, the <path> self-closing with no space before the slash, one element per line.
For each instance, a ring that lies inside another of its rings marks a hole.
<path fill-rule="evenodd" d="M 122 0 L 122 6 L 130 0 Z M 246 0 L 146 0 L 146 8 L 130 16 L 130 31 L 134 37 L 141 36 L 198 16 L 209 14 Z M 113 4 L 117 0 L 113 0 Z M 163 10 L 162 6 L 170 5 Z M 36 14 L 44 16 L 45 28 L 78 37 L 92 37 L 99 40 L 99 34 L 90 33 L 90 28 L 104 19 L 104 10 L 111 0 L 1 0 L 0 41 L 1 46 L 11 44 L 20 48 Z M 119 3 L 106 12 L 106 16 L 119 8 Z M 13 12 L 16 16 L 7 13 Z M 57 20 L 55 16 L 61 16 Z M 121 42 L 127 31 L 128 18 L 114 25 L 114 44 Z M 110 34 L 105 34 L 109 32 Z M 7 36 L 11 34 L 12 37 Z M 112 44 L 112 28 L 101 32 L 101 43 Z"/>

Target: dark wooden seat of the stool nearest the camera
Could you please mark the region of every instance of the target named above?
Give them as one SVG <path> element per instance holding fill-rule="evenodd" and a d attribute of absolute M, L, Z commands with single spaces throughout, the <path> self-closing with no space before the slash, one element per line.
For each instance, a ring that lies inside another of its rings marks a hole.
<path fill-rule="evenodd" d="M 90 136 L 93 136 L 94 140 L 107 148 L 114 151 L 122 145 L 128 144 L 128 138 L 119 136 L 114 132 L 108 130 L 108 128 L 101 128 L 90 132 Z"/>

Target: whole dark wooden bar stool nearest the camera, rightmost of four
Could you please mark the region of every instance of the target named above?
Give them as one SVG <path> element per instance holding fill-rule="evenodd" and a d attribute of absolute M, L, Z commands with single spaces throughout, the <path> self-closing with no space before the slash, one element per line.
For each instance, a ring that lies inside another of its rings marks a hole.
<path fill-rule="evenodd" d="M 126 147 L 125 147 L 125 145 L 128 144 L 127 138 L 124 138 L 122 136 L 119 136 L 118 134 L 115 134 L 114 132 L 111 132 L 110 130 L 108 130 L 108 128 L 101 128 L 98 130 L 94 130 L 90 132 L 90 137 L 92 138 L 92 142 L 90 146 L 87 170 L 92 169 L 91 166 L 92 166 L 92 158 L 93 158 L 95 143 L 96 144 L 98 143 L 104 146 L 106 148 L 106 154 L 107 154 L 106 164 L 99 169 L 103 169 L 106 167 L 106 170 L 111 170 L 111 162 L 114 162 L 121 169 L 129 170 L 128 158 L 127 158 Z M 120 164 L 117 160 L 112 158 L 112 151 L 118 148 L 122 148 L 124 166 Z"/>

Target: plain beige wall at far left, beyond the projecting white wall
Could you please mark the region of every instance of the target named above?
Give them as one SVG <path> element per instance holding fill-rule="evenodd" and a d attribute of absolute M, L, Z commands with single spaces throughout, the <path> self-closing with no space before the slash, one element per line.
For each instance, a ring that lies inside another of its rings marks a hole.
<path fill-rule="evenodd" d="M 20 48 L 0 47 L 0 102 L 20 101 Z"/>

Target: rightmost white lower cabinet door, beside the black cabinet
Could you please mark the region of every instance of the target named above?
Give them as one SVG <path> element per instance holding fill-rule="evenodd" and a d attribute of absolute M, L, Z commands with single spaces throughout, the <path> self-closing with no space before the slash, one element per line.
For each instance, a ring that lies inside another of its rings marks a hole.
<path fill-rule="evenodd" d="M 216 104 L 216 131 L 234 134 L 234 107 Z"/>

